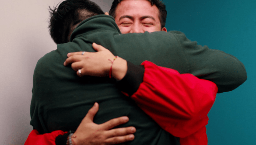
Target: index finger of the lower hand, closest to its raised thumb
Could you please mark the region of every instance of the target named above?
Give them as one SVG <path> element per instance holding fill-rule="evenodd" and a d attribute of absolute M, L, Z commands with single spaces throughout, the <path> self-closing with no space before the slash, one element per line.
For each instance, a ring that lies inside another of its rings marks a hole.
<path fill-rule="evenodd" d="M 128 121 L 129 121 L 129 118 L 124 116 L 124 117 L 118 117 L 118 118 L 111 119 L 111 120 L 109 120 L 103 124 L 100 124 L 100 125 L 102 126 L 103 129 L 109 130 L 118 125 L 125 124 Z"/>

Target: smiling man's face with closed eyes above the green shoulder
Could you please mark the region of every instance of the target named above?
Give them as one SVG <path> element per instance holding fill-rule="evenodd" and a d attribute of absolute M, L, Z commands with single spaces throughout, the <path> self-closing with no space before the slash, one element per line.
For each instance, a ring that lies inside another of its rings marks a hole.
<path fill-rule="evenodd" d="M 167 31 L 161 28 L 159 10 L 147 0 L 123 0 L 116 7 L 116 24 L 123 34 Z"/>

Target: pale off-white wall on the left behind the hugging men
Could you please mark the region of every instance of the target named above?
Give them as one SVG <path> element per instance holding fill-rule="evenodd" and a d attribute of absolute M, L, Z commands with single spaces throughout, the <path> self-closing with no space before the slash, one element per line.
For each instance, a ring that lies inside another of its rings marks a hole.
<path fill-rule="evenodd" d="M 63 0 L 62 0 L 63 1 Z M 108 12 L 112 0 L 92 0 Z M 36 62 L 56 49 L 48 6 L 59 0 L 4 0 L 0 5 L 0 144 L 23 145 L 32 126 L 30 101 Z"/>

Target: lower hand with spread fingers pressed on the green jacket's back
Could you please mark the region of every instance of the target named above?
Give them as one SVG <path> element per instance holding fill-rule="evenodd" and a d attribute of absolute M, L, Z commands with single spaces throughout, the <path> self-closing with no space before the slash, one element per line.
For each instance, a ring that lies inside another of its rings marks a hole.
<path fill-rule="evenodd" d="M 93 118 L 97 112 L 98 103 L 95 103 L 72 135 L 75 145 L 115 145 L 134 139 L 134 127 L 112 129 L 128 122 L 128 117 L 118 117 L 103 124 L 95 124 Z"/>

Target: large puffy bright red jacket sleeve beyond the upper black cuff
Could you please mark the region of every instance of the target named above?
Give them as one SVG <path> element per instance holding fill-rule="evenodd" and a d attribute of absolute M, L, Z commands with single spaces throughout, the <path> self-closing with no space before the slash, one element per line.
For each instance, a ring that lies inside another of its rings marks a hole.
<path fill-rule="evenodd" d="M 205 128 L 217 86 L 152 62 L 145 61 L 142 65 L 145 67 L 143 83 L 131 96 L 137 105 L 176 137 L 185 138 Z"/>

